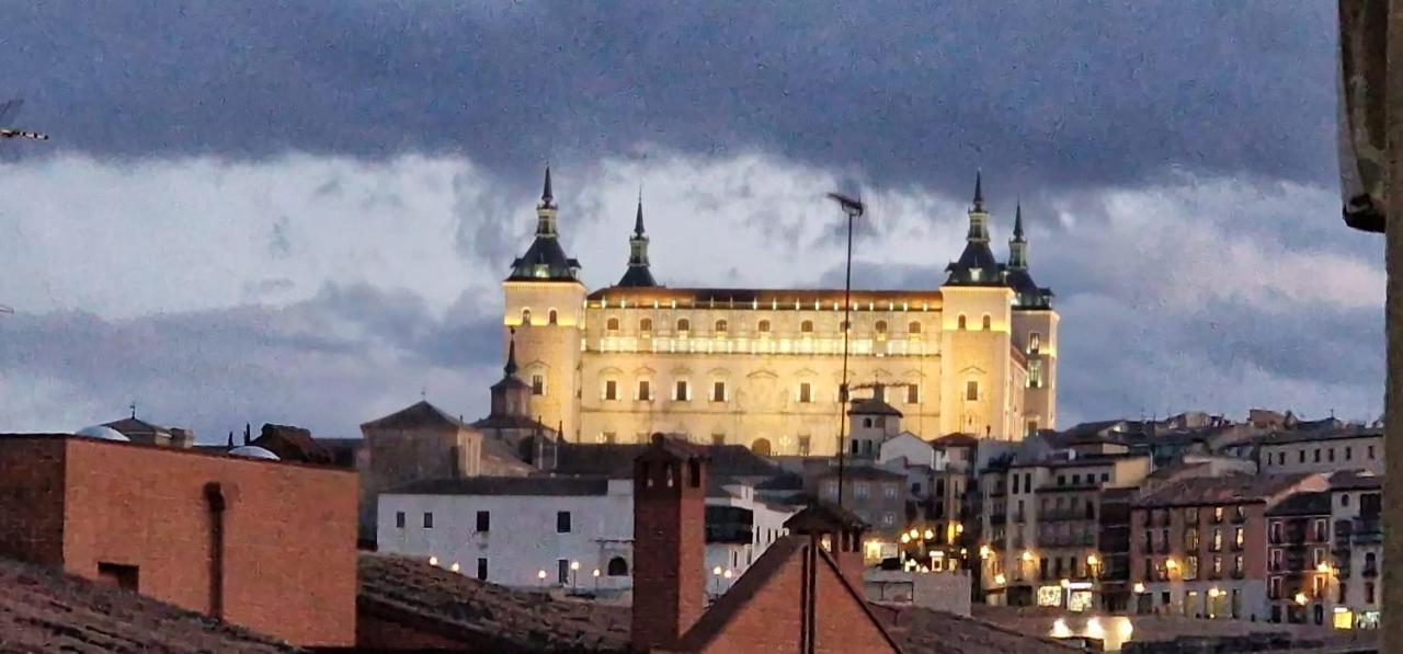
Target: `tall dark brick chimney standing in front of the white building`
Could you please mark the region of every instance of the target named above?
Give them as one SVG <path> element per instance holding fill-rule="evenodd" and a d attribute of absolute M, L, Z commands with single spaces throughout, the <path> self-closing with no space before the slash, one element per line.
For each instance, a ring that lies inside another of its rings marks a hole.
<path fill-rule="evenodd" d="M 666 648 L 706 608 L 706 451 L 662 434 L 633 463 L 633 648 Z"/>

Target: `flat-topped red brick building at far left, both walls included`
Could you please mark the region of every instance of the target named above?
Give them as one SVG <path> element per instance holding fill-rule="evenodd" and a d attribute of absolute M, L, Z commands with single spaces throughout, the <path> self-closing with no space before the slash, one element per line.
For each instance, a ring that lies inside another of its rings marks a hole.
<path fill-rule="evenodd" d="M 355 502 L 344 470 L 0 435 L 0 556 L 302 646 L 354 641 Z"/>

